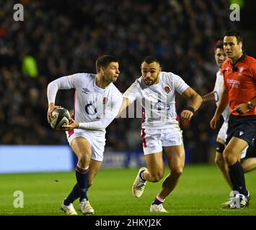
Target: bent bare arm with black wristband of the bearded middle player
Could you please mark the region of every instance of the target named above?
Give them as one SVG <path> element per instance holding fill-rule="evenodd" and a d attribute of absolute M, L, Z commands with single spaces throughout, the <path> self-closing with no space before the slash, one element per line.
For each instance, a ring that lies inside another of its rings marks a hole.
<path fill-rule="evenodd" d="M 194 115 L 194 112 L 199 109 L 201 103 L 203 102 L 203 98 L 198 93 L 196 93 L 191 87 L 187 88 L 182 93 L 182 96 L 190 100 L 191 103 L 190 106 L 187 106 L 187 108 L 181 112 L 181 117 L 182 119 L 190 121 L 190 119 Z"/>

